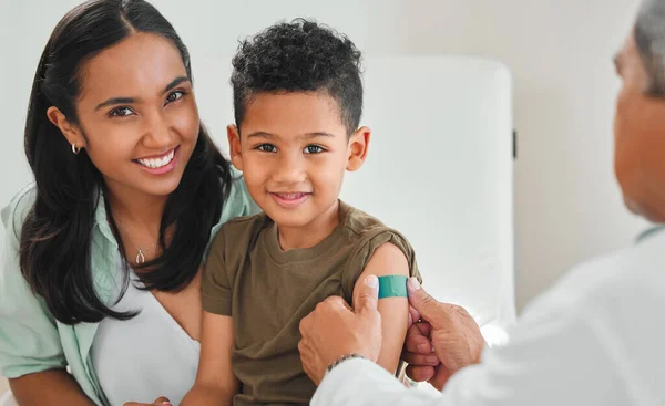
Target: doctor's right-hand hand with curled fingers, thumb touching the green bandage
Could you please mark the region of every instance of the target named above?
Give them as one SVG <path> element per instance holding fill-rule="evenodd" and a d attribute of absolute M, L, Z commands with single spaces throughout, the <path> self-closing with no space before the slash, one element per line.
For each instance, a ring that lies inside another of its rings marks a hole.
<path fill-rule="evenodd" d="M 407 375 L 441 391 L 459 369 L 480 362 L 484 340 L 463 308 L 438 302 L 416 278 L 409 280 L 407 289 L 410 317 L 413 322 L 421 321 L 409 327 L 405 341 L 402 358 L 409 363 Z"/>

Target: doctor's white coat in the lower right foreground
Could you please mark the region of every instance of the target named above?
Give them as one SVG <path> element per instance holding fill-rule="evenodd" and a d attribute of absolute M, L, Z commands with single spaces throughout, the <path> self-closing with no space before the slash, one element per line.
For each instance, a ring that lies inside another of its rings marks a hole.
<path fill-rule="evenodd" d="M 665 232 L 577 267 L 536 299 L 501 347 L 456 374 L 443 393 L 407 389 L 351 360 L 313 406 L 665 405 Z"/>

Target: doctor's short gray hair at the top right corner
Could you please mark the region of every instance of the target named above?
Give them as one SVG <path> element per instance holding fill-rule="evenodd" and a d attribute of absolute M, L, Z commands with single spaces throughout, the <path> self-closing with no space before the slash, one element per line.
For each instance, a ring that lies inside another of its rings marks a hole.
<path fill-rule="evenodd" d="M 647 93 L 665 97 L 665 0 L 643 0 L 635 43 L 648 76 Z"/>

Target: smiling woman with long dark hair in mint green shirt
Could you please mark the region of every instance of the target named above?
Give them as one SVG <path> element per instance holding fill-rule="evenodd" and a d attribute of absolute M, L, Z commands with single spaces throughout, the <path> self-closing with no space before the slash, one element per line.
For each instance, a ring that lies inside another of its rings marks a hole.
<path fill-rule="evenodd" d="M 20 405 L 177 403 L 192 386 L 208 241 L 256 210 L 192 86 L 143 0 L 89 1 L 51 34 L 25 125 L 35 185 L 2 210 L 0 367 Z"/>

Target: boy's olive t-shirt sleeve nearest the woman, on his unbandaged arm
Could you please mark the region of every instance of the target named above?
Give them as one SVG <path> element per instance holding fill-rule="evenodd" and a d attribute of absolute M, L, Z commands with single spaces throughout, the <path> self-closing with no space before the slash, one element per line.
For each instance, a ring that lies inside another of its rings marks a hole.
<path fill-rule="evenodd" d="M 209 313 L 231 315 L 232 285 L 225 261 L 224 228 L 211 244 L 207 262 L 203 269 L 201 293 L 203 310 Z"/>

